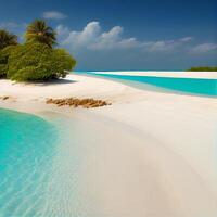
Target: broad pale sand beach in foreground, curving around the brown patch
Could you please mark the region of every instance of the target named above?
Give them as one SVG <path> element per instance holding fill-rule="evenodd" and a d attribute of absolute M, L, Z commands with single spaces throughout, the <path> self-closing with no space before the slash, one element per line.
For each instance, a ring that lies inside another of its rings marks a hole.
<path fill-rule="evenodd" d="M 73 74 L 47 85 L 0 80 L 0 98 L 5 95 L 0 107 L 62 119 L 68 132 L 67 164 L 73 142 L 80 145 L 87 216 L 217 216 L 217 99 L 139 90 Z M 67 97 L 112 105 L 86 110 L 46 104 L 48 98 Z M 82 133 L 75 136 L 75 129 Z M 69 180 L 64 183 L 71 186 Z"/>

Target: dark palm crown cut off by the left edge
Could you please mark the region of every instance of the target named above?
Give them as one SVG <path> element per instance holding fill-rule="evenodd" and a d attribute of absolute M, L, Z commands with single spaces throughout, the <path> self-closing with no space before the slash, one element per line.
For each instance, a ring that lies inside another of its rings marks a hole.
<path fill-rule="evenodd" d="M 17 36 L 10 34 L 7 30 L 0 29 L 0 50 L 8 47 L 8 46 L 16 46 Z"/>

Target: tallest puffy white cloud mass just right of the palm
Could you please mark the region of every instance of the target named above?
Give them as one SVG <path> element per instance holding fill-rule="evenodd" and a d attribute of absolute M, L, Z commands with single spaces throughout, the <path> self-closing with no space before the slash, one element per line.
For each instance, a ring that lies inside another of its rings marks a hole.
<path fill-rule="evenodd" d="M 73 49 L 108 50 L 140 46 L 136 38 L 123 38 L 123 30 L 122 26 L 114 26 L 108 31 L 102 31 L 100 23 L 95 21 L 88 23 L 81 31 L 69 31 L 63 25 L 56 27 L 56 31 L 62 38 L 66 36 L 61 43 Z"/>

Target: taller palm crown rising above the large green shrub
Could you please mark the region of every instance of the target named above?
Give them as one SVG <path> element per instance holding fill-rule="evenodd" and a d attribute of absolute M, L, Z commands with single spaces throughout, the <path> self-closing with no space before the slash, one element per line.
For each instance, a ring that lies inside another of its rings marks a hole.
<path fill-rule="evenodd" d="M 56 33 L 47 26 L 42 20 L 36 20 L 27 26 L 25 38 L 26 41 L 38 41 L 48 44 L 50 48 L 56 44 Z"/>

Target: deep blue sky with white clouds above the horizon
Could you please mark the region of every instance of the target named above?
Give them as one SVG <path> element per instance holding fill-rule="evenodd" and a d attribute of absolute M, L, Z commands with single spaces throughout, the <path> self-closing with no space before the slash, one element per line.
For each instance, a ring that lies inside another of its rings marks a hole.
<path fill-rule="evenodd" d="M 217 65 L 216 0 L 0 0 L 0 28 L 20 36 L 46 18 L 76 69 Z"/>

